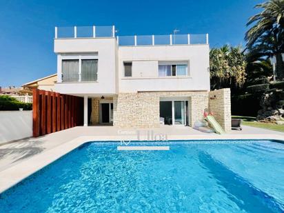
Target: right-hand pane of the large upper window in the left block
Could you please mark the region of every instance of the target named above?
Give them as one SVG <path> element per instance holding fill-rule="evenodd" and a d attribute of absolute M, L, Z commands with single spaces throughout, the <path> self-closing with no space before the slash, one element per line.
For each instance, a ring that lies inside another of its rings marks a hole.
<path fill-rule="evenodd" d="M 98 60 L 81 60 L 81 81 L 97 81 Z"/>

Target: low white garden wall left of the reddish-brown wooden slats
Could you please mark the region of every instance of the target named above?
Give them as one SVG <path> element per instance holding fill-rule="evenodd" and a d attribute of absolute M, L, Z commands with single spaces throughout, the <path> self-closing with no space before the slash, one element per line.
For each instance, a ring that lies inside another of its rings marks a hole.
<path fill-rule="evenodd" d="M 0 111 L 0 144 L 32 136 L 32 111 Z"/>

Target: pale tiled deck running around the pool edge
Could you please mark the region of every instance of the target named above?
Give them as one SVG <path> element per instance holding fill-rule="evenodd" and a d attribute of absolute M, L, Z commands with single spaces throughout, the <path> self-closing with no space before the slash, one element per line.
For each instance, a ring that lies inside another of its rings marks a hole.
<path fill-rule="evenodd" d="M 118 129 L 112 126 L 77 127 L 55 132 L 37 139 L 27 139 L 0 145 L 0 192 L 21 179 L 43 168 L 87 141 L 154 140 L 153 136 L 167 139 L 279 139 L 284 132 L 275 132 L 243 126 L 228 134 L 208 134 L 185 126 L 164 126 L 152 129 Z"/>

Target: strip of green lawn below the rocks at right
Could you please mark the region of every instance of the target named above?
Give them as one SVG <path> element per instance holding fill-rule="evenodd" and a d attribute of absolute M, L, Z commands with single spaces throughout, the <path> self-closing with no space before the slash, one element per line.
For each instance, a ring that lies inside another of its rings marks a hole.
<path fill-rule="evenodd" d="M 275 123 L 263 123 L 256 121 L 255 117 L 250 116 L 232 116 L 232 119 L 242 119 L 242 125 L 250 125 L 254 128 L 263 128 L 267 130 L 274 130 L 284 132 L 284 125 L 277 125 Z"/>

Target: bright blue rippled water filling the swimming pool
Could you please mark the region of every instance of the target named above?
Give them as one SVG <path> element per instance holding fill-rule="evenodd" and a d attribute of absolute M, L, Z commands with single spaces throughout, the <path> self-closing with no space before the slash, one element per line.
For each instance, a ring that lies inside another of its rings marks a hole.
<path fill-rule="evenodd" d="M 87 143 L 0 194 L 0 212 L 284 212 L 284 144 Z"/>

